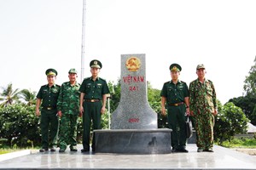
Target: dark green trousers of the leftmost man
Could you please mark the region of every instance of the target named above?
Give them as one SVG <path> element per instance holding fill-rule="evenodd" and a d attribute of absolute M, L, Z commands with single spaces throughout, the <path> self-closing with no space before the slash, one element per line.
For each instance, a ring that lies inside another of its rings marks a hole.
<path fill-rule="evenodd" d="M 57 110 L 41 111 L 41 133 L 42 148 L 49 148 L 57 145 L 59 131 L 59 117 L 56 116 Z"/>

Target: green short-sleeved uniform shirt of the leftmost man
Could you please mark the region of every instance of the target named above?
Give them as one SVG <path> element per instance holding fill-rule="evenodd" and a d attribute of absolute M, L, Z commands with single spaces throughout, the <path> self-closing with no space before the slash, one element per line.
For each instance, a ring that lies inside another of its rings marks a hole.
<path fill-rule="evenodd" d="M 43 99 L 42 107 L 55 108 L 60 90 L 61 90 L 61 86 L 57 84 L 53 85 L 51 88 L 49 88 L 48 84 L 42 86 L 37 95 L 38 99 Z"/>

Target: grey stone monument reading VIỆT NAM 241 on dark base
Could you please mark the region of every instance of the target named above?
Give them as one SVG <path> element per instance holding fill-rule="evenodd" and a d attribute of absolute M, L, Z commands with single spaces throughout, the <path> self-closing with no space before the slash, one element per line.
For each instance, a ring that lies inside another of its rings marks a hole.
<path fill-rule="evenodd" d="M 95 130 L 96 153 L 168 154 L 171 129 L 157 128 L 148 104 L 145 54 L 121 55 L 121 98 L 111 130 Z"/>

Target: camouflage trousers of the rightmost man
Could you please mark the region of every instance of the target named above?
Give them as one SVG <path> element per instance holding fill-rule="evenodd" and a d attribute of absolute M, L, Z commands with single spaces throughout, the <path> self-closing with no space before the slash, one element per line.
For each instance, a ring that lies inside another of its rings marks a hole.
<path fill-rule="evenodd" d="M 213 146 L 214 116 L 211 112 L 195 113 L 196 145 L 209 149 Z"/>

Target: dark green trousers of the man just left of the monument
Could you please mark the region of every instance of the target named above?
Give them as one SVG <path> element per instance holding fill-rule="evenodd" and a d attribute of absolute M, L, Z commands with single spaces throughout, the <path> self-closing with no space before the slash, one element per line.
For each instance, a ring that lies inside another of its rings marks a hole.
<path fill-rule="evenodd" d="M 83 147 L 84 150 L 90 149 L 90 126 L 94 129 L 101 129 L 102 119 L 102 102 L 86 102 L 84 101 L 84 114 L 83 114 Z M 95 147 L 95 136 L 92 138 L 92 148 Z"/>

